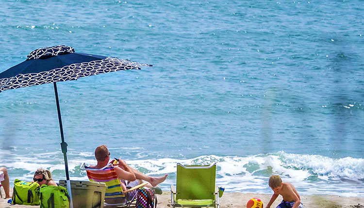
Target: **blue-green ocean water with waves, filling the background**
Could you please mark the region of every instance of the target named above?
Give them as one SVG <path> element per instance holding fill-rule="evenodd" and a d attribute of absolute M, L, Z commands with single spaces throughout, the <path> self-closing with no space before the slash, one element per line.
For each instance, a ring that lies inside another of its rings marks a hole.
<path fill-rule="evenodd" d="M 364 197 L 361 0 L 2 0 L 0 72 L 36 48 L 130 59 L 151 68 L 57 83 L 71 179 L 112 157 L 148 175 L 217 163 L 228 192 Z M 0 166 L 64 179 L 51 84 L 0 93 Z"/>

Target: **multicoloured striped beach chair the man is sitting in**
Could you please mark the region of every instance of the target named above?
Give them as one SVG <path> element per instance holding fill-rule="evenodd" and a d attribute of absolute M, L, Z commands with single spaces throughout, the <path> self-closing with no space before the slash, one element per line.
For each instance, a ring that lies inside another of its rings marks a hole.
<path fill-rule="evenodd" d="M 113 164 L 108 164 L 103 168 L 96 169 L 88 167 L 85 163 L 83 163 L 81 165 L 81 170 L 86 171 L 87 177 L 90 181 L 102 182 L 106 184 L 107 189 L 105 192 L 104 206 L 130 207 L 136 199 L 136 194 L 129 201 L 126 200 L 125 194 L 148 184 L 142 183 L 138 186 L 128 189 L 127 191 L 123 191 Z"/>

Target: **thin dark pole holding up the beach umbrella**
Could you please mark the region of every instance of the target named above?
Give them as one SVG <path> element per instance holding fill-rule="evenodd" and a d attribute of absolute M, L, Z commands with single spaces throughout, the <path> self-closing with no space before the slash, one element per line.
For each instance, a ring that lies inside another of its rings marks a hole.
<path fill-rule="evenodd" d="M 59 108 L 59 100 L 58 100 L 58 91 L 57 85 L 53 82 L 54 87 L 54 94 L 56 96 L 56 104 L 57 104 L 57 112 L 58 112 L 58 121 L 59 121 L 59 129 L 61 130 L 61 149 L 63 152 L 63 157 L 65 159 L 65 169 L 66 169 L 66 183 L 67 183 L 67 191 L 69 193 L 70 204 L 69 207 L 73 208 L 73 201 L 72 201 L 72 191 L 71 191 L 71 182 L 69 180 L 69 173 L 68 173 L 68 162 L 67 162 L 67 143 L 65 142 L 65 136 L 63 135 L 63 126 L 62 126 L 62 118 L 61 118 L 61 109 Z"/>

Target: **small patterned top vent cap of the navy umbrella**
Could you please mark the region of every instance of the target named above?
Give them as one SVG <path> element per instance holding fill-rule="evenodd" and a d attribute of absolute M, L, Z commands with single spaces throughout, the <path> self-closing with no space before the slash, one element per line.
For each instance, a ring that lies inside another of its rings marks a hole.
<path fill-rule="evenodd" d="M 44 59 L 46 57 L 58 56 L 61 54 L 73 53 L 75 49 L 66 45 L 55 45 L 51 47 L 38 48 L 28 55 L 29 59 Z"/>

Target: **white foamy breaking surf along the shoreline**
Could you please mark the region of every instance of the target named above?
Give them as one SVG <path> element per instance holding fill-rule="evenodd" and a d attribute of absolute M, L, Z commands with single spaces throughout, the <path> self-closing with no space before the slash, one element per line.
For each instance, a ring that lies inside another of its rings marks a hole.
<path fill-rule="evenodd" d="M 61 179 L 64 163 L 59 153 L 42 153 L 36 158 L 17 157 L 15 162 L 2 165 L 13 169 L 13 177 L 31 179 L 38 167 L 56 172 L 55 179 Z M 33 163 L 33 161 L 37 163 Z M 79 170 L 81 163 L 95 164 L 93 152 L 81 152 L 70 155 L 68 168 L 70 178 L 87 180 L 83 171 Z M 283 181 L 293 183 L 301 194 L 336 194 L 343 196 L 364 196 L 364 159 L 339 158 L 333 159 L 320 155 L 290 154 L 283 151 L 258 154 L 247 157 L 205 155 L 191 159 L 149 159 L 127 160 L 132 167 L 146 172 L 147 175 L 169 174 L 167 180 L 161 184 L 167 190 L 169 185 L 175 184 L 176 164 L 210 164 L 217 163 L 216 184 L 224 186 L 230 192 L 271 193 L 268 178 L 278 174 Z M 18 171 L 22 170 L 22 171 Z M 17 175 L 17 172 L 19 174 Z M 355 184 L 355 186 L 353 186 Z M 340 189 L 338 189 L 340 187 Z M 340 190 L 340 191 L 338 191 Z"/>

